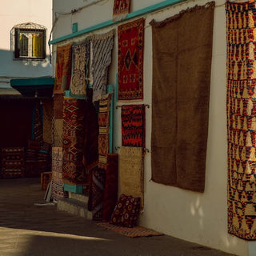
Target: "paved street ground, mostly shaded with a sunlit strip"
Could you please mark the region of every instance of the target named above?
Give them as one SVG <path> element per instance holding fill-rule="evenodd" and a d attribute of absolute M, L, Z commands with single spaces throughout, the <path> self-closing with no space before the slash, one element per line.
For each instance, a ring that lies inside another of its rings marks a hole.
<path fill-rule="evenodd" d="M 228 256 L 167 235 L 127 238 L 43 202 L 38 178 L 0 180 L 0 256 Z"/>

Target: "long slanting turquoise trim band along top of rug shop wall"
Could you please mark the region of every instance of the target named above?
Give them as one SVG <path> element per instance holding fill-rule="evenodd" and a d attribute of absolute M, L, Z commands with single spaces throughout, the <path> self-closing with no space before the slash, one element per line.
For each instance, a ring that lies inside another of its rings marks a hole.
<path fill-rule="evenodd" d="M 65 41 L 65 40 L 70 39 L 70 38 L 75 38 L 75 37 L 78 37 L 79 35 L 87 34 L 87 33 L 90 33 L 92 31 L 95 31 L 95 30 L 100 30 L 100 29 L 105 28 L 107 26 L 112 26 L 114 24 L 118 24 L 120 22 L 124 22 L 126 20 L 129 20 L 130 18 L 135 18 L 135 17 L 141 16 L 143 14 L 148 14 L 148 13 L 153 12 L 155 10 L 161 10 L 161 9 L 166 8 L 168 6 L 173 6 L 174 4 L 177 4 L 179 2 L 185 2 L 185 1 L 186 0 L 166 0 L 166 1 L 163 1 L 163 2 L 159 2 L 159 3 L 156 3 L 152 6 L 147 6 L 146 8 L 142 8 L 140 10 L 135 10 L 134 12 L 132 12 L 130 14 L 127 14 L 126 18 L 122 21 L 113 22 L 112 20 L 109 20 L 109 21 L 106 21 L 106 22 L 98 23 L 97 25 L 90 26 L 90 27 L 88 27 L 84 30 L 80 30 L 80 31 L 72 33 L 72 34 L 67 34 L 67 35 L 62 36 L 60 38 L 53 39 L 49 43 L 50 43 L 50 45 L 54 45 L 55 43 Z"/>

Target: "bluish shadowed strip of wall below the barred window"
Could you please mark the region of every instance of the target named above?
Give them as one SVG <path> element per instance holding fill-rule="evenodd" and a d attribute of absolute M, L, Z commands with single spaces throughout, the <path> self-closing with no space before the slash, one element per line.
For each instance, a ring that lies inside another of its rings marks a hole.
<path fill-rule="evenodd" d="M 51 76 L 50 56 L 43 60 L 15 59 L 11 50 L 0 50 L 0 77 Z"/>

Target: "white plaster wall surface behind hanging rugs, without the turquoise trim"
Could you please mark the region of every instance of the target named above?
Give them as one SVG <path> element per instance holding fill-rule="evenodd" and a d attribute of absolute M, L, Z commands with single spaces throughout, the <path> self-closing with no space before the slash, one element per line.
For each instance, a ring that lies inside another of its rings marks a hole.
<path fill-rule="evenodd" d="M 63 4 L 65 2 L 65 5 Z M 131 10 L 139 10 L 161 0 L 132 1 Z M 187 1 L 170 6 L 154 14 L 144 15 L 144 103 L 151 105 L 152 86 L 152 38 L 149 22 L 160 21 L 177 14 L 180 10 L 206 0 Z M 210 246 L 238 255 L 248 255 L 248 242 L 227 233 L 227 154 L 226 154 L 226 14 L 224 0 L 217 0 L 214 13 L 214 44 L 210 85 L 210 120 L 206 158 L 206 189 L 203 194 L 164 186 L 150 181 L 150 153 L 145 157 L 145 209 L 141 225 L 162 231 L 177 238 Z M 74 3 L 78 4 L 75 6 Z M 54 11 L 69 12 L 86 5 L 86 0 L 70 2 L 54 1 Z M 64 9 L 65 6 L 65 9 Z M 113 0 L 81 10 L 78 14 L 59 15 L 54 38 L 72 33 L 72 23 L 78 22 L 78 30 L 85 29 L 112 17 Z M 116 27 L 116 26 L 114 26 Z M 110 30 L 97 30 L 101 34 Z M 85 38 L 73 38 L 66 42 L 78 42 Z M 60 45 L 66 44 L 61 42 Z M 113 62 L 110 68 L 110 83 L 115 85 L 117 73 L 117 37 L 115 38 Z M 116 103 L 116 102 L 115 102 Z M 132 104 L 133 102 L 127 102 Z M 114 108 L 114 146 L 121 146 L 121 113 Z M 146 109 L 146 148 L 150 149 L 151 108 Z M 254 248 L 250 242 L 250 250 Z M 171 246 L 171 245 L 170 245 Z M 251 254 L 253 255 L 253 254 Z"/>

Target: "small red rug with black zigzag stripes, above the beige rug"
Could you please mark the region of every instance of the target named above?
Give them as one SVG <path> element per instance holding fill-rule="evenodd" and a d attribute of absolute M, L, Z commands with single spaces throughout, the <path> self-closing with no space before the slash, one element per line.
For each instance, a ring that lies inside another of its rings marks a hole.
<path fill-rule="evenodd" d="M 145 147 L 145 105 L 122 106 L 122 146 Z"/>

